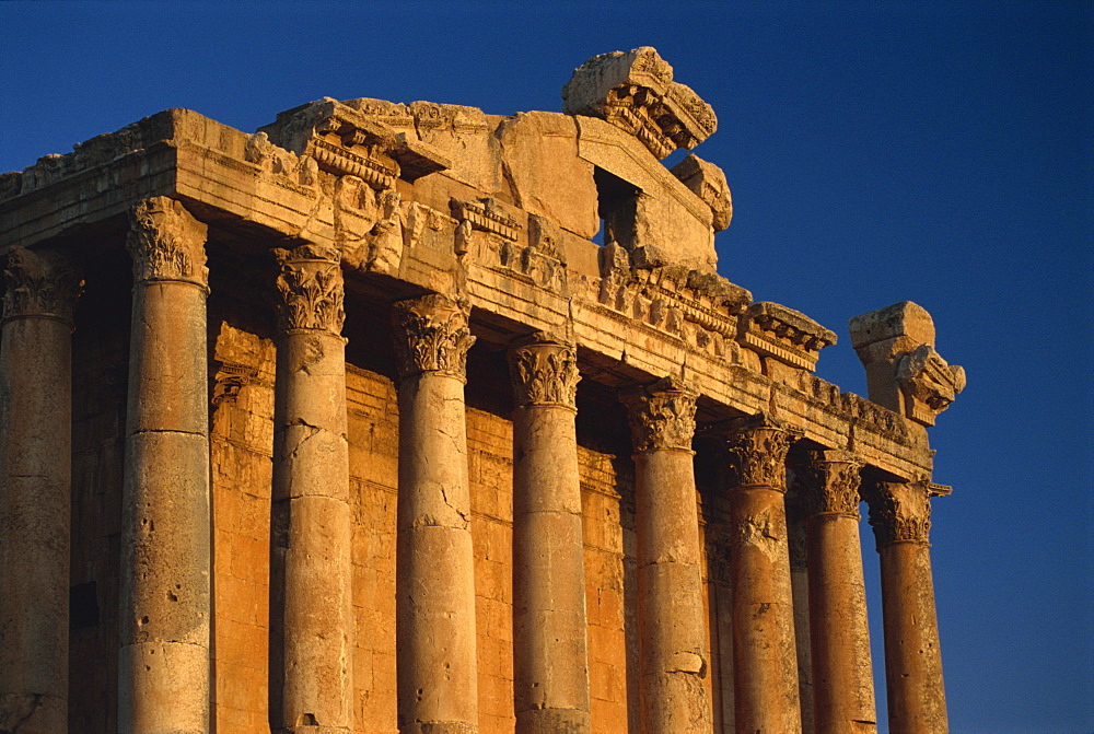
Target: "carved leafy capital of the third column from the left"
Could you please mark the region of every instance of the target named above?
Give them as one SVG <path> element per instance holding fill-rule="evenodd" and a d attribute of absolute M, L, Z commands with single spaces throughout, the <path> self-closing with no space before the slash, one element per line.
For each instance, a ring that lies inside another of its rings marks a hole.
<path fill-rule="evenodd" d="M 276 282 L 281 328 L 341 334 L 346 291 L 338 248 L 306 244 L 275 249 L 274 257 L 281 266 Z"/>

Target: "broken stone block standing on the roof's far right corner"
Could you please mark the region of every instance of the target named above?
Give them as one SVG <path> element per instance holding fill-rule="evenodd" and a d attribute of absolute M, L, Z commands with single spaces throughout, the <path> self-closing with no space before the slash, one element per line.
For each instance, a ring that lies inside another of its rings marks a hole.
<path fill-rule="evenodd" d="M 911 301 L 851 319 L 851 346 L 866 369 L 870 399 L 934 426 L 965 388 L 965 370 L 934 351 L 934 321 Z"/>

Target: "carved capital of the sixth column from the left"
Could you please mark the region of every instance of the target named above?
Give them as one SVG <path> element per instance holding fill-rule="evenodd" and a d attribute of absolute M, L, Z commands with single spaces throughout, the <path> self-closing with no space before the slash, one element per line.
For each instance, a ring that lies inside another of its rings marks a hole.
<path fill-rule="evenodd" d="M 629 408 L 635 453 L 691 451 L 699 392 L 678 377 L 664 377 L 620 396 Z"/>

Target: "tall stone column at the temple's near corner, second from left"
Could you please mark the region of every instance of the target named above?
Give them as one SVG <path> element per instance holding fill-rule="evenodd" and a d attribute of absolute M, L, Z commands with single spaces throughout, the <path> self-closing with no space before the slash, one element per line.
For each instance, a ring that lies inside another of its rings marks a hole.
<path fill-rule="evenodd" d="M 209 731 L 211 534 L 206 225 L 132 211 L 118 731 Z"/>

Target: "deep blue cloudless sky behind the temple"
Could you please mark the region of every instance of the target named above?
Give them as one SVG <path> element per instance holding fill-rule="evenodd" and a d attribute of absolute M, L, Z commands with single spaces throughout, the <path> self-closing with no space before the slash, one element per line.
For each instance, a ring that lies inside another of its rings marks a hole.
<path fill-rule="evenodd" d="M 953 733 L 1094 732 L 1094 4 L 545 4 L 0 2 L 0 171 L 167 107 L 558 110 L 590 56 L 656 47 L 719 115 L 722 275 L 838 331 L 846 389 L 847 319 L 903 300 L 968 371 L 931 431 Z"/>

